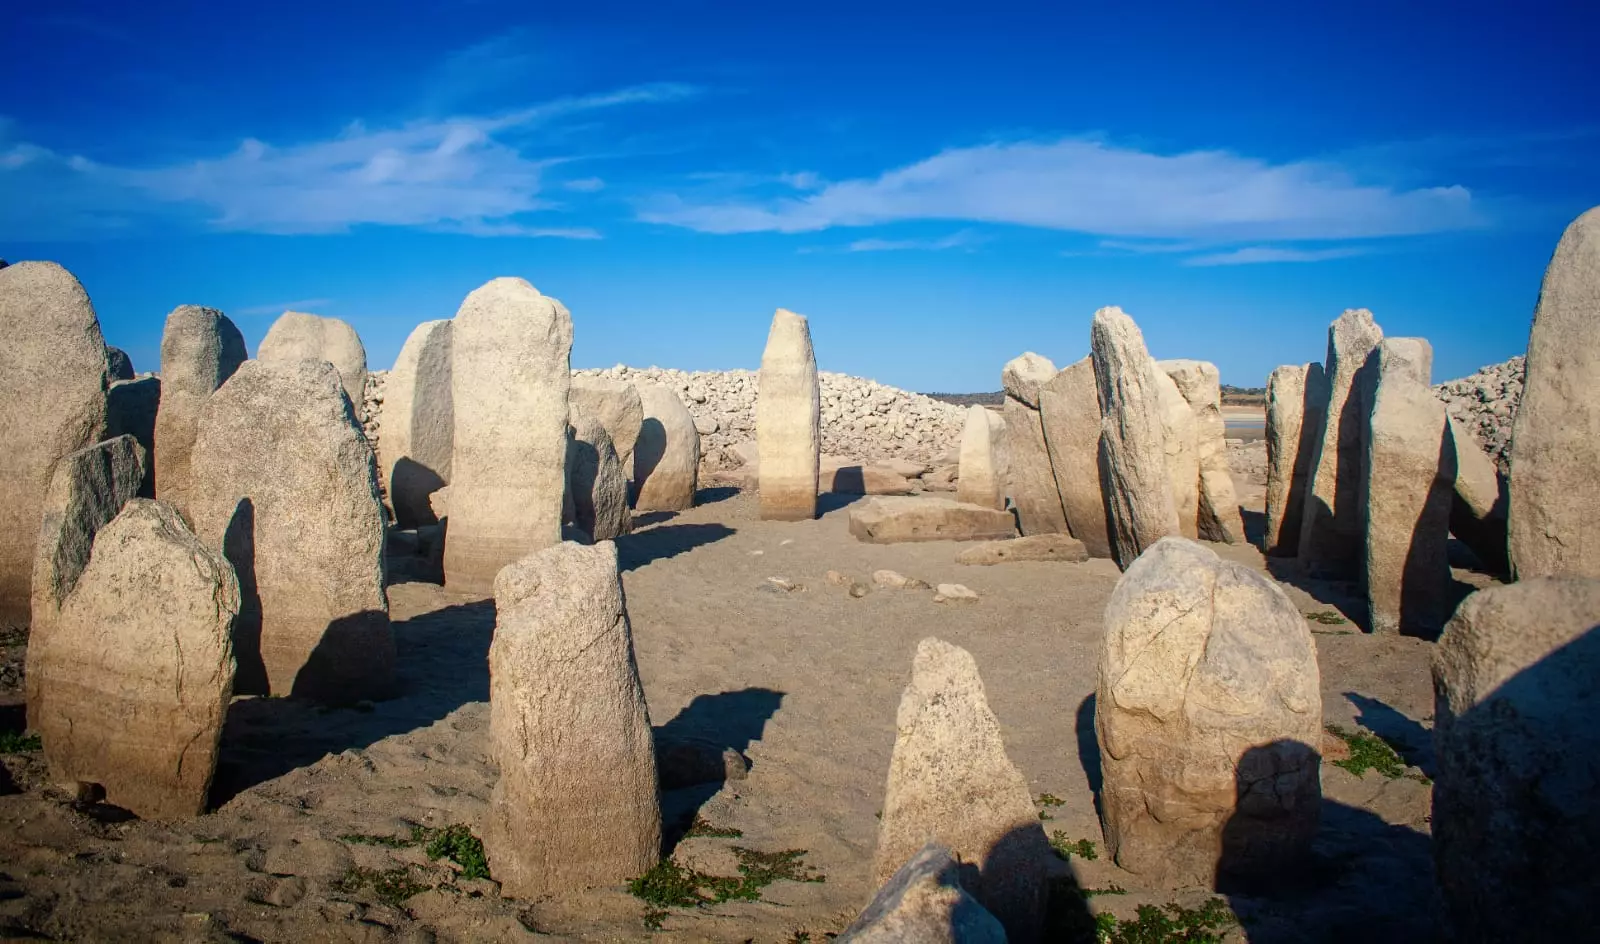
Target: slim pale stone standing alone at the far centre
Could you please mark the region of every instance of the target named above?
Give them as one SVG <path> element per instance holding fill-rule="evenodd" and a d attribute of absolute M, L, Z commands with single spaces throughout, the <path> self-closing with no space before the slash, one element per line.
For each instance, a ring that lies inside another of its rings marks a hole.
<path fill-rule="evenodd" d="M 816 379 L 811 328 L 803 315 L 778 309 L 762 354 L 755 397 L 755 448 L 762 517 L 805 522 L 816 517 L 822 454 L 822 394 Z"/>

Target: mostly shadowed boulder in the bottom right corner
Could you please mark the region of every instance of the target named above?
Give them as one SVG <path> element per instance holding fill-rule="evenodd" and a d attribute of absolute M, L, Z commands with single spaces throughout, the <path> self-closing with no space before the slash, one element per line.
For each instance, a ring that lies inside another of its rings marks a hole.
<path fill-rule="evenodd" d="M 1600 581 L 1526 579 L 1469 597 L 1438 640 L 1434 862 L 1456 941 L 1594 936 L 1595 626 Z"/>

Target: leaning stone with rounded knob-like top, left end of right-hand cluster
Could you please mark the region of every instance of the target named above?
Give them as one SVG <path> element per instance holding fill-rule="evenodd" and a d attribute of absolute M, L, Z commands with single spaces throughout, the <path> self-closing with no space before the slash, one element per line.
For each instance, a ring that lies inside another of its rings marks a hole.
<path fill-rule="evenodd" d="M 1005 451 L 1010 469 L 1011 504 L 1024 534 L 1061 534 L 1067 531 L 1067 514 L 1061 510 L 1056 474 L 1050 467 L 1045 424 L 1038 414 L 1038 392 L 1056 365 L 1029 350 L 1000 370 L 1005 389 Z"/>

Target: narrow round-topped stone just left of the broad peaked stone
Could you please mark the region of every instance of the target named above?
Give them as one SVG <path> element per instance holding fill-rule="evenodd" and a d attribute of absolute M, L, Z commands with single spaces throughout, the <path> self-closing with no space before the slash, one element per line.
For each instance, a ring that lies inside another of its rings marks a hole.
<path fill-rule="evenodd" d="M 189 514 L 189 461 L 200 408 L 245 363 L 245 336 L 216 309 L 178 306 L 162 331 L 162 403 L 155 438 L 162 443 L 155 494 Z"/>

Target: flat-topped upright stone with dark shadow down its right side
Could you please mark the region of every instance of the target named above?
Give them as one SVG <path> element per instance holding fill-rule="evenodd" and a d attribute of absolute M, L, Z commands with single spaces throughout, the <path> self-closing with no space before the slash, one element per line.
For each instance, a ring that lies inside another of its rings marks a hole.
<path fill-rule="evenodd" d="M 1424 350 L 1426 349 L 1426 350 Z M 1450 619 L 1456 451 L 1419 338 L 1378 346 L 1366 456 L 1366 603 L 1373 632 L 1438 632 Z M 1363 397 L 1365 398 L 1365 397 Z"/>

